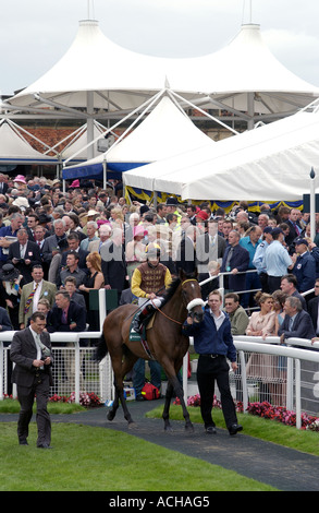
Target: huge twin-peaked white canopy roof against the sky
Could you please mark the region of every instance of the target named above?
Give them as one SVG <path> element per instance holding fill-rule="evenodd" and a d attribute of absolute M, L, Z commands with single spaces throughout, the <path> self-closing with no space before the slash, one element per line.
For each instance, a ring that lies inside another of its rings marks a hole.
<path fill-rule="evenodd" d="M 255 112 L 296 110 L 319 96 L 319 88 L 283 67 L 265 45 L 259 25 L 243 25 L 223 49 L 203 57 L 169 59 L 136 53 L 107 38 L 97 21 L 79 22 L 74 43 L 39 80 L 14 96 L 16 106 L 39 107 L 35 95 L 68 108 L 134 109 L 169 83 L 172 91 L 194 100 L 208 97 L 221 106 Z M 209 102 L 203 99 L 203 105 Z"/>

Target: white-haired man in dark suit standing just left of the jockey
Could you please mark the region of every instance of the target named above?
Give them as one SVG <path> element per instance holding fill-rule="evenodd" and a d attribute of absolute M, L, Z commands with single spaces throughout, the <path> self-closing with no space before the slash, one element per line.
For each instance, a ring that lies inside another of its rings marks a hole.
<path fill-rule="evenodd" d="M 122 290 L 128 287 L 127 270 L 124 254 L 124 231 L 121 228 L 113 230 L 112 242 L 101 247 L 102 273 L 105 288 L 116 289 L 120 301 Z"/>

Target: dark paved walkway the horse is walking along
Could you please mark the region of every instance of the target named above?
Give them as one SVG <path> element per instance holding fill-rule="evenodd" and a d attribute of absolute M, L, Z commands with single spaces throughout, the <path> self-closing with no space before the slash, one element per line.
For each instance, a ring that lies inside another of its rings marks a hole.
<path fill-rule="evenodd" d="M 230 437 L 225 429 L 216 436 L 206 434 L 204 427 L 195 425 L 187 433 L 184 422 L 172 421 L 173 431 L 163 430 L 162 419 L 148 419 L 145 414 L 158 402 L 130 402 L 128 407 L 136 427 L 127 428 L 120 407 L 115 419 L 107 420 L 107 408 L 89 409 L 72 415 L 52 415 L 52 422 L 72 422 L 124 431 L 157 445 L 188 456 L 220 465 L 257 479 L 283 491 L 319 491 L 319 457 L 249 437 L 241 432 Z M 0 421 L 15 421 L 16 415 L 0 415 Z"/>

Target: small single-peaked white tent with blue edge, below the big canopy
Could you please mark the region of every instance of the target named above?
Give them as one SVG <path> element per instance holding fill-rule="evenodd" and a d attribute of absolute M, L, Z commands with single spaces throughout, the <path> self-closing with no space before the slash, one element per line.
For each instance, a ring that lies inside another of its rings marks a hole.
<path fill-rule="evenodd" d="M 130 129 L 128 129 L 130 130 Z M 120 141 L 120 139 L 119 139 Z M 205 135 L 169 96 L 163 96 L 150 114 L 126 138 L 102 155 L 63 170 L 63 178 L 103 176 L 103 165 L 125 171 L 186 150 L 216 143 Z"/>

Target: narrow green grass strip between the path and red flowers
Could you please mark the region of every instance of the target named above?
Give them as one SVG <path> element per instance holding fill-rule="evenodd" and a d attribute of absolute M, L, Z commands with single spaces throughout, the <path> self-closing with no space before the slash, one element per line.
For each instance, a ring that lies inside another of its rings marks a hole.
<path fill-rule="evenodd" d="M 203 423 L 199 407 L 188 407 L 191 419 L 194 423 Z M 160 418 L 162 407 L 159 406 L 147 414 L 150 418 Z M 172 420 L 183 420 L 181 406 L 171 406 L 170 417 Z M 219 428 L 225 429 L 222 410 L 213 408 L 213 420 Z M 319 456 L 319 433 L 300 430 L 291 426 L 284 426 L 275 420 L 263 419 L 248 414 L 237 414 L 238 423 L 244 428 L 244 433 L 256 437 L 268 442 L 278 443 L 286 448 L 295 449 L 305 453 Z"/>

